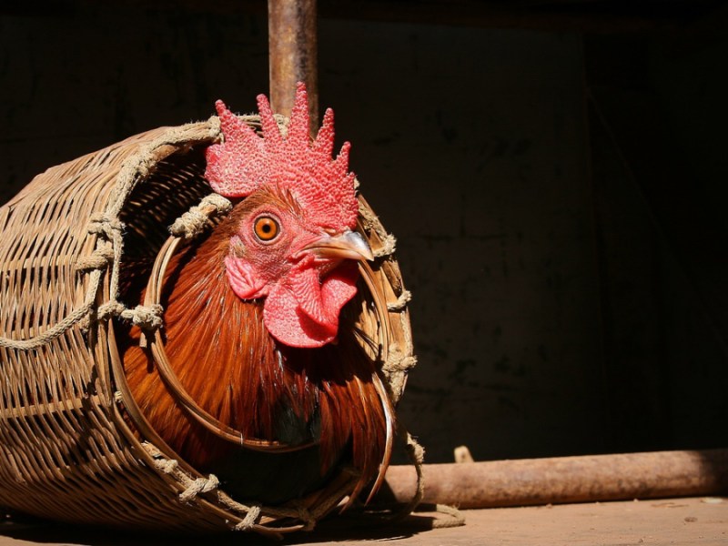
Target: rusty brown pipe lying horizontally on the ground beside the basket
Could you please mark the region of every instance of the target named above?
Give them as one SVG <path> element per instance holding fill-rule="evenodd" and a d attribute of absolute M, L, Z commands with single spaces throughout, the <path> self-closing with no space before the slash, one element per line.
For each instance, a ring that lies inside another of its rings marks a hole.
<path fill-rule="evenodd" d="M 423 502 L 460 508 L 712 495 L 728 492 L 728 450 L 428 464 L 424 483 Z M 414 470 L 392 466 L 386 484 L 407 502 Z"/>

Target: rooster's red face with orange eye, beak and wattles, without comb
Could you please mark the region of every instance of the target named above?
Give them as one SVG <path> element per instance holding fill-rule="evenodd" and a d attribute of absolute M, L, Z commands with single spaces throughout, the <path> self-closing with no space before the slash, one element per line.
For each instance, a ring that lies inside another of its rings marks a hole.
<path fill-rule="evenodd" d="M 357 233 L 308 221 L 295 197 L 260 189 L 246 199 L 230 252 L 227 280 L 238 298 L 266 298 L 270 334 L 290 347 L 336 339 L 339 311 L 356 294 L 354 260 L 370 259 Z"/>

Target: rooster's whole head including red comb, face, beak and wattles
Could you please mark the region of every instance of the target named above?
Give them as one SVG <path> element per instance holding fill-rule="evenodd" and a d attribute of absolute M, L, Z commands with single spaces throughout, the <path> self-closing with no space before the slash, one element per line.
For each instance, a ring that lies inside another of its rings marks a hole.
<path fill-rule="evenodd" d="M 265 298 L 263 321 L 291 347 L 337 337 L 339 311 L 356 294 L 356 260 L 372 259 L 356 227 L 359 207 L 349 143 L 336 158 L 334 116 L 308 137 L 306 88 L 298 84 L 288 130 L 258 96 L 262 136 L 217 101 L 224 142 L 207 148 L 206 177 L 225 197 L 246 197 L 232 213 L 227 281 L 243 299 Z"/>

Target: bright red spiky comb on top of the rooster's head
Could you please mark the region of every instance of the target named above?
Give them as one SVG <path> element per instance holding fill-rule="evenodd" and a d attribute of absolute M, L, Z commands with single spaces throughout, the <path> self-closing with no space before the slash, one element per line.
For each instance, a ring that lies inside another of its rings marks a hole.
<path fill-rule="evenodd" d="M 258 95 L 262 137 L 222 101 L 215 106 L 225 141 L 207 148 L 205 176 L 218 194 L 246 197 L 259 187 L 274 186 L 288 190 L 321 227 L 354 227 L 359 208 L 354 174 L 349 173 L 349 143 L 344 143 L 339 156 L 332 159 L 334 113 L 330 108 L 318 136 L 310 141 L 304 84 L 298 83 L 296 88 L 285 136 L 264 95 Z"/>

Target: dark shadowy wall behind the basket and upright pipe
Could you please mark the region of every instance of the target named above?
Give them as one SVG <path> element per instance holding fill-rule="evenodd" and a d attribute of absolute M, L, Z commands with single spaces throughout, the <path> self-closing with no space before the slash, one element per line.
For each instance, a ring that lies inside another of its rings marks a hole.
<path fill-rule="evenodd" d="M 723 2 L 320 0 L 430 462 L 728 446 Z M 268 91 L 256 2 L 0 8 L 0 197 Z M 79 219 L 84 220 L 85 219 Z"/>

